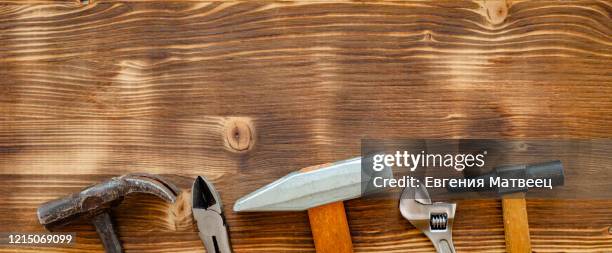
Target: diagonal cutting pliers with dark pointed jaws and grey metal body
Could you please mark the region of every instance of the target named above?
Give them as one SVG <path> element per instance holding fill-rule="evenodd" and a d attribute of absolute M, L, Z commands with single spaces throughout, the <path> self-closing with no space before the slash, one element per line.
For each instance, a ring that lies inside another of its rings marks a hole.
<path fill-rule="evenodd" d="M 229 233 L 221 197 L 206 178 L 198 176 L 191 189 L 192 212 L 198 224 L 200 239 L 208 253 L 231 253 Z"/>

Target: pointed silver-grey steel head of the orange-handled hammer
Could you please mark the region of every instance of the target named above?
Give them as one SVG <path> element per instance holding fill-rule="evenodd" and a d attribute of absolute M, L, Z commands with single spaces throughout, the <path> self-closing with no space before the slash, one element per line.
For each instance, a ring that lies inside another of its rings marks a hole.
<path fill-rule="evenodd" d="M 240 198 L 234 211 L 303 211 L 358 198 L 371 180 L 362 173 L 361 157 L 302 169 Z M 384 168 L 377 176 L 392 178 L 393 173 Z"/>

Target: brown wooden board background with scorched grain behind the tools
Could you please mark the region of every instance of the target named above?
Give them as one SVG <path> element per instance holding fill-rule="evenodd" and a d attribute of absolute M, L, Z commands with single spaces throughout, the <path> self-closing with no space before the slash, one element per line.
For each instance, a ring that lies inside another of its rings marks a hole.
<path fill-rule="evenodd" d="M 306 212 L 235 214 L 361 138 L 612 137 L 610 1 L 0 1 L 0 231 L 127 172 L 221 191 L 236 252 L 313 252 Z M 129 198 L 127 252 L 202 252 L 186 202 Z M 346 203 L 356 252 L 433 252 L 397 201 Z M 612 201 L 528 200 L 535 252 L 612 251 Z M 91 225 L 74 248 L 102 252 Z M 458 252 L 503 252 L 501 203 L 459 202 Z"/>

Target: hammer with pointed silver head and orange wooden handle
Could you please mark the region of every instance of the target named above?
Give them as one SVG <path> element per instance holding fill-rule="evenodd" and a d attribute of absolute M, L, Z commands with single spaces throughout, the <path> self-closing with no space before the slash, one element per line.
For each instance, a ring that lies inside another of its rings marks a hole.
<path fill-rule="evenodd" d="M 310 228 L 318 253 L 353 252 L 353 243 L 342 201 L 362 195 L 361 157 L 307 167 L 292 172 L 244 197 L 236 212 L 308 210 Z M 390 168 L 378 174 L 392 178 Z"/>

